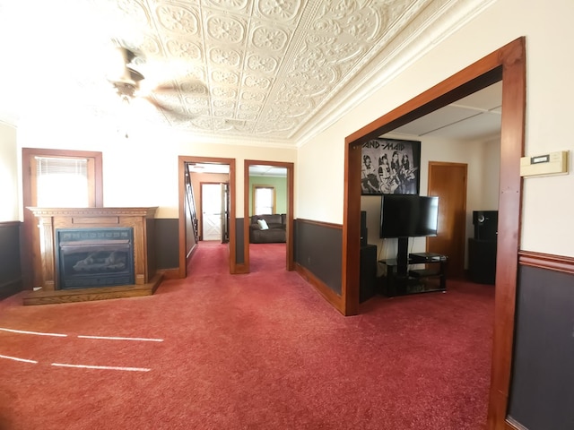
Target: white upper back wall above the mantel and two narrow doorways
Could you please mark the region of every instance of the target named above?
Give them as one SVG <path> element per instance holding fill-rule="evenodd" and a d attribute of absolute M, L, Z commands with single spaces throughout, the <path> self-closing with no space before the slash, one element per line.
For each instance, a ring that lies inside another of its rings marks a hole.
<path fill-rule="evenodd" d="M 243 218 L 243 160 L 295 162 L 295 149 L 246 146 L 193 139 L 187 133 L 141 124 L 125 138 L 113 126 L 86 114 L 65 125 L 29 118 L 19 130 L 19 166 L 22 148 L 97 150 L 102 152 L 104 206 L 159 206 L 156 218 L 178 218 L 178 156 L 236 160 L 236 216 Z M 19 172 L 21 177 L 22 172 Z M 22 181 L 19 181 L 22 188 Z M 22 208 L 21 214 L 22 217 Z"/>

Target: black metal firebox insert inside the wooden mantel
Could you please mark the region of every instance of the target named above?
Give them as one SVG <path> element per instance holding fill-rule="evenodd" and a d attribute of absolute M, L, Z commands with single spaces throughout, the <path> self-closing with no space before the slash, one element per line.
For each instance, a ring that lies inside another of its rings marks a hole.
<path fill-rule="evenodd" d="M 133 228 L 58 228 L 59 288 L 133 284 L 133 246 Z"/>

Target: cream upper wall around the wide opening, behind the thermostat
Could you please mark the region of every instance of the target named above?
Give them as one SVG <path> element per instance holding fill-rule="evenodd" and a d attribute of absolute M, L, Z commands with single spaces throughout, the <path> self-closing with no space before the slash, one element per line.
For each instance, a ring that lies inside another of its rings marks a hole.
<path fill-rule="evenodd" d="M 568 138 L 574 56 L 564 51 L 565 41 L 574 39 L 572 16 L 571 0 L 499 0 L 439 42 L 344 120 L 304 143 L 296 216 L 342 223 L 345 136 L 521 36 L 526 36 L 526 154 L 574 149 Z M 574 200 L 565 198 L 573 188 L 572 175 L 525 180 L 522 249 L 574 256 L 574 229 L 564 228 L 574 214 Z"/>

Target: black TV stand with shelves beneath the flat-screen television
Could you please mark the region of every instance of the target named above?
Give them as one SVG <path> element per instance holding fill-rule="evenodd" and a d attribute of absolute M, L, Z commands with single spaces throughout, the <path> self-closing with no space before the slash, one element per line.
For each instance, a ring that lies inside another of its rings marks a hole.
<path fill-rule="evenodd" d="M 415 293 L 446 291 L 446 266 L 448 257 L 434 253 L 408 254 L 406 271 L 397 259 L 380 260 L 387 266 L 383 292 L 387 297 Z M 414 264 L 425 264 L 425 269 L 410 269 Z"/>

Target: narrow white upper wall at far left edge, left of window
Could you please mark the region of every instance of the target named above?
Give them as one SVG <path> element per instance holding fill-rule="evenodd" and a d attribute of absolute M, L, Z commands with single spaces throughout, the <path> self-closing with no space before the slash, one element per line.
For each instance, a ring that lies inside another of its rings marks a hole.
<path fill-rule="evenodd" d="M 16 128 L 0 122 L 0 222 L 18 220 Z"/>

